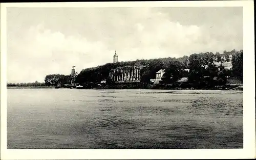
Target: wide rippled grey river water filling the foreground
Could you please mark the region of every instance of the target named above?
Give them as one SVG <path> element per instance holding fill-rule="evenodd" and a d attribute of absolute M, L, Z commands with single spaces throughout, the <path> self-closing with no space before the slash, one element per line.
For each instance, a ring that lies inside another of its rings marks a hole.
<path fill-rule="evenodd" d="M 243 148 L 243 92 L 8 89 L 7 147 Z"/>

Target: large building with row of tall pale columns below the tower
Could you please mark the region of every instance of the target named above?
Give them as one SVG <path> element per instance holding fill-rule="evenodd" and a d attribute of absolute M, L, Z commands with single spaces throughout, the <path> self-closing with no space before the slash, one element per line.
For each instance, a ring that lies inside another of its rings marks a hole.
<path fill-rule="evenodd" d="M 147 66 L 124 66 L 112 69 L 109 78 L 116 83 L 132 83 L 141 81 L 141 71 Z"/>

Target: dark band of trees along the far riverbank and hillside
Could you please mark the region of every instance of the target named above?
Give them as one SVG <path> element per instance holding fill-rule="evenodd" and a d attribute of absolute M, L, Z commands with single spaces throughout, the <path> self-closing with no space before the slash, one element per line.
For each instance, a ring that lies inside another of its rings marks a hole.
<path fill-rule="evenodd" d="M 232 58 L 230 58 L 230 55 Z M 225 69 L 224 63 L 231 63 L 231 69 Z M 220 65 L 217 66 L 216 64 Z M 106 63 L 105 65 L 81 70 L 76 78 L 76 83 L 97 84 L 106 79 L 107 84 L 111 69 L 124 66 L 147 66 L 141 70 L 141 83 L 150 83 L 150 79 L 156 78 L 156 72 L 165 69 L 162 83 L 176 83 L 181 77 L 187 77 L 190 86 L 215 86 L 225 85 L 227 78 L 237 78 L 243 81 L 243 50 L 216 52 L 204 52 L 192 54 L 181 58 L 159 58 L 150 60 L 136 60 L 118 63 Z M 187 72 L 185 69 L 189 69 Z M 71 75 L 49 74 L 45 77 L 45 83 L 21 83 L 8 84 L 8 86 L 67 86 L 70 84 Z"/>

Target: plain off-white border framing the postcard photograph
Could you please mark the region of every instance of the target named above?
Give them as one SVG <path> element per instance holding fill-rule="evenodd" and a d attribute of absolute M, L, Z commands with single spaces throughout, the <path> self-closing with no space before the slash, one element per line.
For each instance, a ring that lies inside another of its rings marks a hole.
<path fill-rule="evenodd" d="M 243 149 L 7 149 L 6 8 L 8 7 L 243 7 Z M 91 2 L 1 4 L 1 159 L 255 158 L 253 1 Z"/>

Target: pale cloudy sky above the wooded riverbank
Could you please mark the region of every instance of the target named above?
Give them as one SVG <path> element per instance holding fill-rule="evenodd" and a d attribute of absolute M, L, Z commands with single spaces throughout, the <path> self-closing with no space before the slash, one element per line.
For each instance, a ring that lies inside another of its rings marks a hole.
<path fill-rule="evenodd" d="M 118 61 L 243 49 L 242 7 L 7 8 L 8 83 Z"/>

